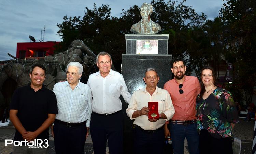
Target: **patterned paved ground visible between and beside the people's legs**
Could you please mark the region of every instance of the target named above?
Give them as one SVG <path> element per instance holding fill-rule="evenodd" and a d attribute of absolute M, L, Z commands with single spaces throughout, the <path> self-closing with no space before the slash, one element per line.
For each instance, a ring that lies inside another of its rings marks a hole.
<path fill-rule="evenodd" d="M 237 124 L 234 127 L 234 136 L 240 138 L 242 141 L 241 144 L 241 154 L 250 154 L 252 151 L 252 142 L 253 142 L 253 130 L 254 122 L 245 122 L 243 119 L 240 119 L 240 124 Z M 15 128 L 12 124 L 8 126 L 0 127 L 0 154 L 11 154 L 12 145 L 5 146 L 5 139 L 13 139 L 15 133 Z M 51 134 L 51 133 L 49 133 Z M 54 139 L 50 137 L 49 141 L 50 154 L 55 154 L 54 151 Z M 93 154 L 93 144 L 91 142 L 91 137 L 86 139 L 85 154 Z M 108 149 L 106 154 L 109 154 Z M 187 150 L 187 142 L 184 145 L 184 154 L 189 154 Z"/>

